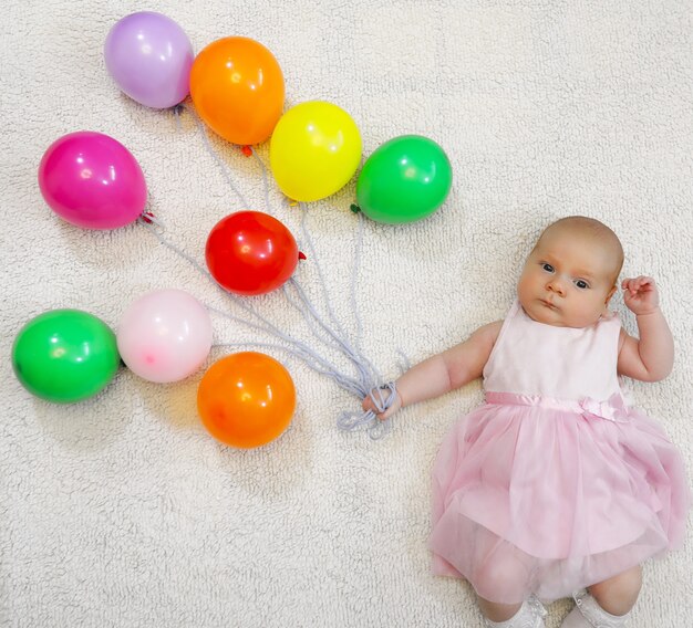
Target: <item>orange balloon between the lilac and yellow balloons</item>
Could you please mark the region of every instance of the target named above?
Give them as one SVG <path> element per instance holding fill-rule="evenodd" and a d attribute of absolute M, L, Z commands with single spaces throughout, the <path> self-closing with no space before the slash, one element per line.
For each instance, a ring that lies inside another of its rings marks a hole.
<path fill-rule="evenodd" d="M 258 144 L 283 109 L 283 75 L 261 43 L 249 38 L 211 42 L 190 70 L 190 96 L 199 116 L 234 144 Z"/>

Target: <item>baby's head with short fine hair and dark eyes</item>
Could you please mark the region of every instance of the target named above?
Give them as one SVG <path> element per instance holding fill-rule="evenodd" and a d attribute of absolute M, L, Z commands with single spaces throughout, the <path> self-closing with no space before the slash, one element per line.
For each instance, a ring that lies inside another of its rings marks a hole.
<path fill-rule="evenodd" d="M 570 216 L 549 224 L 525 262 L 518 299 L 547 325 L 588 327 L 607 313 L 623 265 L 623 249 L 606 224 Z"/>

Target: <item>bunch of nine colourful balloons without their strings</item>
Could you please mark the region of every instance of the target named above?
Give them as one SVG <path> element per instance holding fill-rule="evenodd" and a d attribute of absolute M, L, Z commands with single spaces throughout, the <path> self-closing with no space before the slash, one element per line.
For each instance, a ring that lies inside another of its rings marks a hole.
<path fill-rule="evenodd" d="M 120 20 L 104 45 L 108 73 L 121 90 L 153 108 L 169 108 L 188 94 L 200 118 L 232 144 L 270 139 L 270 168 L 279 189 L 297 201 L 317 201 L 342 189 L 362 157 L 361 133 L 338 105 L 309 101 L 286 113 L 285 81 L 272 53 L 244 36 L 211 42 L 197 56 L 185 31 L 162 13 Z M 385 223 L 422 219 L 445 201 L 452 169 L 444 150 L 416 135 L 395 137 L 366 159 L 356 201 Z M 84 229 L 116 229 L 145 212 L 147 187 L 135 157 L 116 139 L 82 130 L 56 139 L 39 166 L 49 207 Z M 302 254 L 276 218 L 245 209 L 210 231 L 205 259 L 211 276 L 236 295 L 282 286 Z M 211 347 L 207 310 L 180 290 L 155 291 L 124 312 L 117 333 L 76 310 L 31 320 L 12 350 L 14 371 L 32 394 L 73 402 L 102 390 L 121 359 L 146 380 L 174 383 L 196 373 Z M 235 447 L 257 447 L 289 425 L 296 391 L 273 358 L 241 353 L 215 363 L 198 389 L 209 432 Z"/>

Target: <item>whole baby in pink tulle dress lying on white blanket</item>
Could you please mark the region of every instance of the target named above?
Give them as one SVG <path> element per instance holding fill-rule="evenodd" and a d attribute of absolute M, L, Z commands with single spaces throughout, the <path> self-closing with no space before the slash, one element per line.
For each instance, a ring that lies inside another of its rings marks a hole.
<path fill-rule="evenodd" d="M 436 574 L 474 586 L 489 627 L 540 628 L 538 598 L 570 595 L 565 628 L 624 626 L 642 562 L 682 544 L 682 460 L 654 421 L 625 406 L 619 384 L 669 375 L 672 335 L 650 278 L 621 283 L 639 338 L 609 312 L 622 263 L 601 222 L 554 222 L 505 321 L 411 368 L 390 407 L 379 390 L 363 402 L 387 419 L 484 377 L 485 404 L 436 458 L 430 546 Z"/>

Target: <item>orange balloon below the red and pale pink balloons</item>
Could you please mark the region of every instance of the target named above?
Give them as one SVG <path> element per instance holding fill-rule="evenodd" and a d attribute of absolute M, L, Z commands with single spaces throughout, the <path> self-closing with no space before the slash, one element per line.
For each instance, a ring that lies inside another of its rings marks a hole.
<path fill-rule="evenodd" d="M 275 358 L 256 352 L 215 362 L 197 389 L 197 410 L 217 440 L 250 449 L 279 437 L 291 422 L 296 388 Z"/>

